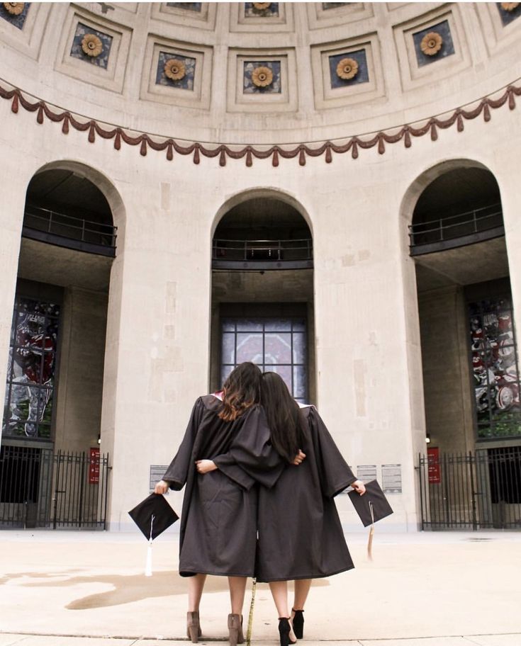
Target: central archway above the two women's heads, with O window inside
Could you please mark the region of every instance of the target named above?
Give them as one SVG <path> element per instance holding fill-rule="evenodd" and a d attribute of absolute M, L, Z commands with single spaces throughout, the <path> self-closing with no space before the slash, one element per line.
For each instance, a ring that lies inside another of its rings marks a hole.
<path fill-rule="evenodd" d="M 300 205 L 274 191 L 235 198 L 213 234 L 211 389 L 242 361 L 315 398 L 313 239 Z"/>

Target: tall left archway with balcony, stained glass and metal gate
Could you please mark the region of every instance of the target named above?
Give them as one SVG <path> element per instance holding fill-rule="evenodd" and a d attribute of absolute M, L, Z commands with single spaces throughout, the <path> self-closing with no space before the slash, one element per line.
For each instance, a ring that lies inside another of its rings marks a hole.
<path fill-rule="evenodd" d="M 99 441 L 117 240 L 106 185 L 76 162 L 45 166 L 28 184 L 2 422 L 3 524 L 104 526 Z"/>

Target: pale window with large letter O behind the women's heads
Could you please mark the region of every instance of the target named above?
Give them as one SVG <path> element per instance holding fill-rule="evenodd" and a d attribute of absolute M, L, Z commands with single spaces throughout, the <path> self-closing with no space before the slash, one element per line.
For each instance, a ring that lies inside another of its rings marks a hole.
<path fill-rule="evenodd" d="M 236 365 L 252 361 L 279 373 L 298 402 L 307 402 L 306 319 L 302 317 L 221 319 L 221 383 Z"/>

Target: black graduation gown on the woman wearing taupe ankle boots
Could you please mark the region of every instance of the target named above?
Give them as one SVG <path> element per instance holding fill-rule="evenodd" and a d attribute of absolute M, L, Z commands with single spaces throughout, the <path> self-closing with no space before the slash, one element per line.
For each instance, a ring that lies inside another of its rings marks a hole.
<path fill-rule="evenodd" d="M 194 404 L 184 439 L 163 480 L 184 492 L 179 536 L 179 574 L 252 577 L 257 539 L 257 487 L 272 487 L 284 464 L 269 443 L 260 406 L 235 421 L 218 417 L 213 395 Z M 195 461 L 214 460 L 218 470 L 201 475 Z"/>

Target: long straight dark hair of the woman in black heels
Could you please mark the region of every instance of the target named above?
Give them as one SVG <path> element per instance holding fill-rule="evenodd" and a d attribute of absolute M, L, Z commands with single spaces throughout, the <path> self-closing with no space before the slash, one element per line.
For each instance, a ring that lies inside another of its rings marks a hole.
<path fill-rule="evenodd" d="M 302 446 L 304 419 L 297 402 L 277 373 L 262 375 L 261 403 L 268 419 L 271 445 L 288 462 L 293 462 Z"/>

